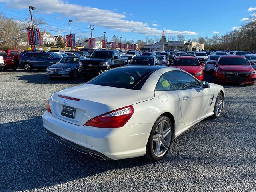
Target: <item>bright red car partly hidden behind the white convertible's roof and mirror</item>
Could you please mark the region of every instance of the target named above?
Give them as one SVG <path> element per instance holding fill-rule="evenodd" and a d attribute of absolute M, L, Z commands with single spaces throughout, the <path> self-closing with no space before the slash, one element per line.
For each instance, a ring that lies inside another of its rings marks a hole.
<path fill-rule="evenodd" d="M 204 78 L 202 66 L 196 57 L 176 57 L 172 62 L 172 67 L 183 69 L 200 81 Z"/>

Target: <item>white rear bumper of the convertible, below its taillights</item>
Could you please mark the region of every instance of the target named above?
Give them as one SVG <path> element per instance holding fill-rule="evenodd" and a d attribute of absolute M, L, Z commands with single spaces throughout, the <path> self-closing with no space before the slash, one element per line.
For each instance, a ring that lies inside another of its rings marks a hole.
<path fill-rule="evenodd" d="M 60 143 L 83 153 L 92 152 L 105 159 L 144 156 L 148 142 L 149 124 L 121 128 L 78 126 L 55 118 L 49 112 L 42 116 L 46 131 Z M 153 126 L 153 125 L 152 125 Z"/>

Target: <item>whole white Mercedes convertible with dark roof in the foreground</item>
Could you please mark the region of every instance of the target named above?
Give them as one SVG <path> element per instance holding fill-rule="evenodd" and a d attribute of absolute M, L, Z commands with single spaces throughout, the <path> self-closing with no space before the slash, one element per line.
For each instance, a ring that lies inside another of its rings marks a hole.
<path fill-rule="evenodd" d="M 55 140 L 95 158 L 157 161 L 182 132 L 220 117 L 224 96 L 178 68 L 121 67 L 52 94 L 43 122 Z"/>

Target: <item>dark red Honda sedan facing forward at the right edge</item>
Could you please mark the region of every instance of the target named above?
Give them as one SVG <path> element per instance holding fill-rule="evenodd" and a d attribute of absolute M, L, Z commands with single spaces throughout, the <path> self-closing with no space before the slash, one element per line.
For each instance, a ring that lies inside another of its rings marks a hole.
<path fill-rule="evenodd" d="M 256 81 L 255 72 L 245 56 L 220 56 L 214 70 L 214 82 L 253 85 Z"/>

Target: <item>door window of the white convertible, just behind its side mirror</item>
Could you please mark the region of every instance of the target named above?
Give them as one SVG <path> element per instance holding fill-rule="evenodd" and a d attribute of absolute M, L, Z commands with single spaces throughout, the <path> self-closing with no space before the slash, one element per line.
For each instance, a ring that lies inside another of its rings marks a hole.
<path fill-rule="evenodd" d="M 165 74 L 175 90 L 200 87 L 200 82 L 181 71 L 172 71 Z"/>

